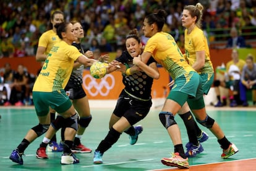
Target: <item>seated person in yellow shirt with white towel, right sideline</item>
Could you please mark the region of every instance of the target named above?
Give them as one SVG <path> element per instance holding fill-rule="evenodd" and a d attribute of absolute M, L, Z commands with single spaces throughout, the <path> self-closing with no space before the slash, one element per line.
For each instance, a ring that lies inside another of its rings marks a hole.
<path fill-rule="evenodd" d="M 226 64 L 226 72 L 224 73 L 223 79 L 217 78 L 213 82 L 216 97 L 218 99 L 218 103 L 215 105 L 215 107 L 226 105 L 226 98 L 224 96 L 222 97 L 223 102 L 221 102 L 220 86 L 231 90 L 232 94 L 229 95 L 231 107 L 237 106 L 241 103 L 239 98 L 239 82 L 245 62 L 244 60 L 239 59 L 237 49 L 232 50 L 231 57 L 232 60 Z"/>

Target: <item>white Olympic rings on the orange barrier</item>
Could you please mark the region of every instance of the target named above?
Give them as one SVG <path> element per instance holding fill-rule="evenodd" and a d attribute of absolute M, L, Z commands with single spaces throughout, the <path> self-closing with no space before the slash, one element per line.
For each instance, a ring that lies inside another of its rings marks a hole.
<path fill-rule="evenodd" d="M 112 74 L 106 74 L 106 76 L 101 79 L 95 79 L 90 74 L 83 76 L 83 86 L 92 97 L 95 97 L 99 93 L 101 96 L 107 96 L 109 91 L 113 89 L 114 84 L 115 81 Z"/>

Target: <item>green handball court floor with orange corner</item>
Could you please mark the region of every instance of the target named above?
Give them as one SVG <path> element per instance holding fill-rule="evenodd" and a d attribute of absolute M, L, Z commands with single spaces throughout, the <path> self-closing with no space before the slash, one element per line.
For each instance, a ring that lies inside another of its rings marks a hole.
<path fill-rule="evenodd" d="M 109 116 L 113 109 L 91 109 L 92 122 L 82 137 L 82 143 L 95 150 L 98 143 L 108 132 Z M 104 164 L 93 164 L 93 153 L 76 154 L 79 164 L 61 165 L 61 154 L 48 152 L 49 159 L 36 159 L 35 152 L 43 139 L 37 138 L 28 146 L 23 156 L 23 165 L 9 160 L 12 150 L 19 145 L 22 138 L 33 125 L 38 124 L 33 107 L 0 108 L 0 170 L 256 170 L 256 108 L 214 108 L 207 106 L 208 114 L 223 129 L 226 137 L 234 142 L 239 152 L 229 159 L 221 159 L 222 150 L 216 138 L 208 130 L 209 139 L 202 143 L 204 151 L 190 158 L 189 169 L 177 169 L 161 164 L 162 157 L 169 157 L 173 145 L 168 133 L 160 124 L 160 108 L 151 109 L 139 124 L 143 132 L 135 145 L 129 145 L 129 138 L 122 133 L 116 144 L 103 155 Z M 187 143 L 187 133 L 179 116 L 176 121 L 181 128 L 183 145 Z M 60 140 L 60 134 L 57 133 Z"/>

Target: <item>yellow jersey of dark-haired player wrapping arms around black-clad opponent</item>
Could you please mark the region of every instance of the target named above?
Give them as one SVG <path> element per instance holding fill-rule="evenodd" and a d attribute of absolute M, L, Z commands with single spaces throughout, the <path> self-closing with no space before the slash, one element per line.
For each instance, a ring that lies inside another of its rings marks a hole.
<path fill-rule="evenodd" d="M 195 71 L 190 66 L 181 50 L 177 46 L 173 36 L 163 31 L 156 33 L 148 39 L 144 52 L 149 52 L 156 62 L 160 63 L 173 79 Z"/>

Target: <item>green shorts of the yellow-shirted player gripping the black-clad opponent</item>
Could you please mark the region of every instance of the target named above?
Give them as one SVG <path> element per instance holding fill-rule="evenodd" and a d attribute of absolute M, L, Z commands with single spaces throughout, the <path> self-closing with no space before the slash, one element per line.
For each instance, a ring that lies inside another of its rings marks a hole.
<path fill-rule="evenodd" d="M 184 94 L 187 94 L 187 97 Z M 199 74 L 191 71 L 189 74 L 176 78 L 167 98 L 176 101 L 181 106 L 187 100 L 203 98 L 202 79 Z"/>

